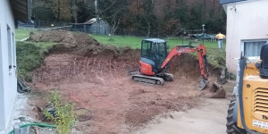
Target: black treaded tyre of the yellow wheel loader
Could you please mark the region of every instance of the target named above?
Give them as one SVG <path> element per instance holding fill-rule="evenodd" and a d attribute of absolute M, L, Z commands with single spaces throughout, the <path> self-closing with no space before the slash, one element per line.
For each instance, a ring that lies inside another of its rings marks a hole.
<path fill-rule="evenodd" d="M 226 123 L 226 133 L 227 134 L 247 134 L 246 130 L 240 129 L 237 125 L 237 122 L 233 121 L 232 116 L 234 114 L 234 108 L 237 98 L 232 98 L 230 100 L 230 105 L 228 109 L 227 115 L 227 123 Z"/>

